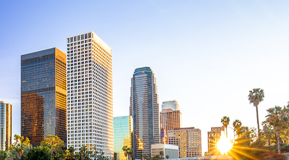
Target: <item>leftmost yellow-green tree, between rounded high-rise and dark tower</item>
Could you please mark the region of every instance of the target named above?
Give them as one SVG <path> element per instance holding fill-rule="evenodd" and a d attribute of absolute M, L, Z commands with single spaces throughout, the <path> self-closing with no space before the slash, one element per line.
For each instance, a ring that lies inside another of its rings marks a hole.
<path fill-rule="evenodd" d="M 19 160 L 21 158 L 26 158 L 27 153 L 32 148 L 32 145 L 30 144 L 30 140 L 28 139 L 28 137 L 26 137 L 24 140 L 24 136 L 15 134 L 14 141 L 15 142 L 9 146 L 8 158 Z"/>

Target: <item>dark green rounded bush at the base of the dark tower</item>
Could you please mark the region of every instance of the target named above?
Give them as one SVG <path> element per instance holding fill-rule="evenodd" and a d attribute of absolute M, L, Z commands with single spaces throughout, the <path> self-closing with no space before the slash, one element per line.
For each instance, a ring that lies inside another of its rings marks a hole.
<path fill-rule="evenodd" d="M 46 146 L 33 147 L 27 154 L 25 160 L 49 160 L 50 149 Z"/>

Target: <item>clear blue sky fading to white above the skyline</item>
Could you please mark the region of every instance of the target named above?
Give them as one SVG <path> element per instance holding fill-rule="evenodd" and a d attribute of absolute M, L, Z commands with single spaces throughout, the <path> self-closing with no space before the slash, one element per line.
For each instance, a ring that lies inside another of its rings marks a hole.
<path fill-rule="evenodd" d="M 160 111 L 176 99 L 183 127 L 207 131 L 221 118 L 257 127 L 249 104 L 262 88 L 266 109 L 289 101 L 287 0 L 2 0 L 0 100 L 13 105 L 12 134 L 21 133 L 21 55 L 51 47 L 66 52 L 66 37 L 93 30 L 113 56 L 113 113 L 129 114 L 130 78 L 150 66 Z M 261 124 L 260 124 L 261 125 Z M 233 138 L 233 130 L 228 129 Z"/>

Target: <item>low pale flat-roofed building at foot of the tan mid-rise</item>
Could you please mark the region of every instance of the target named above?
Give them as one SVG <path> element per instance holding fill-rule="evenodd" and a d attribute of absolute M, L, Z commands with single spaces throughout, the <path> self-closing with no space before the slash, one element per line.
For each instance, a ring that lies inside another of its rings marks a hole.
<path fill-rule="evenodd" d="M 171 144 L 152 144 L 151 155 L 155 156 L 160 155 L 160 151 L 164 152 L 164 158 L 169 155 L 169 158 L 178 158 L 179 157 L 179 146 Z M 161 155 L 160 155 L 161 156 Z"/>

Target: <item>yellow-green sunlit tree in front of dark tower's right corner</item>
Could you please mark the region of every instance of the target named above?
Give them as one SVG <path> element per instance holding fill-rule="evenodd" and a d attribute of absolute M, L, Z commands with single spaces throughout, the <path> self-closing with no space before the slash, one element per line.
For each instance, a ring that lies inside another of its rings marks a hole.
<path fill-rule="evenodd" d="M 64 141 L 57 135 L 47 135 L 40 143 L 42 146 L 47 146 L 50 149 L 50 159 L 56 159 L 56 157 L 63 157 L 64 155 Z"/>

